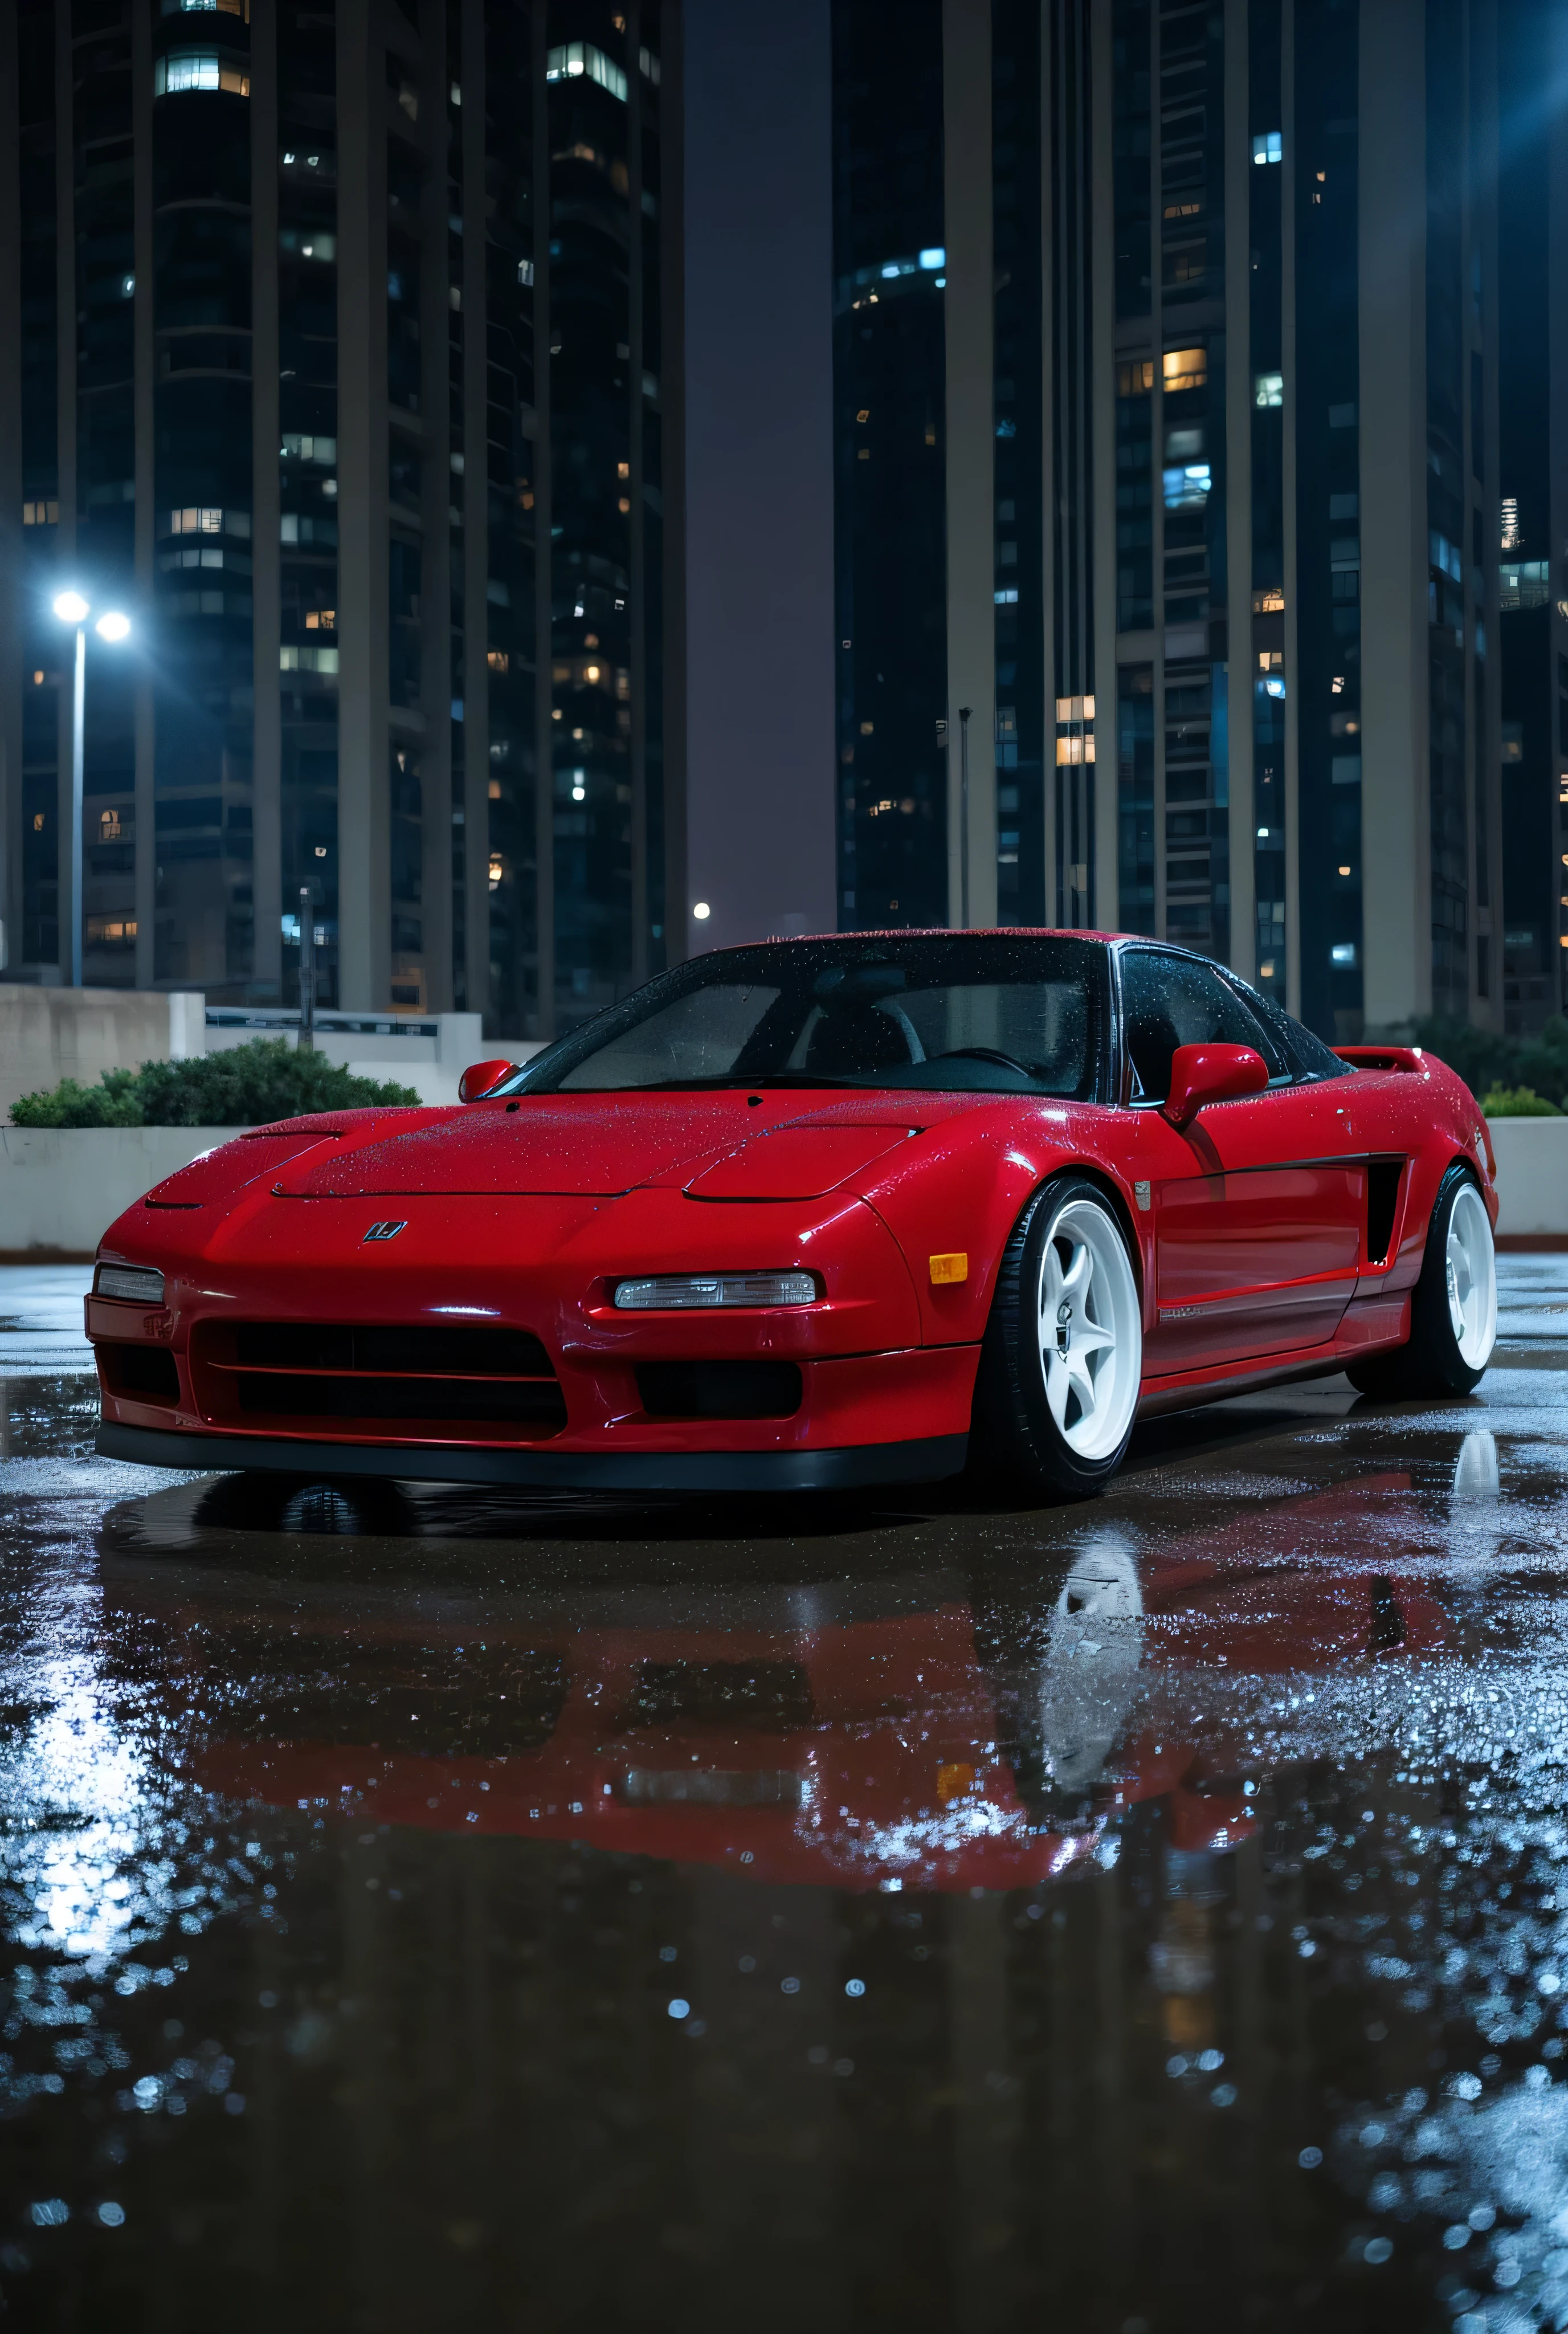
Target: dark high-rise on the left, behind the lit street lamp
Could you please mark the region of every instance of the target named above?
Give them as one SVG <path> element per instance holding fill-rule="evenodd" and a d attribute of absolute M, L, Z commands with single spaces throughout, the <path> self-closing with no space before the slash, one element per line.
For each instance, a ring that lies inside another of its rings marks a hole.
<path fill-rule="evenodd" d="M 133 619 L 86 649 L 89 983 L 292 1001 L 308 945 L 322 1001 L 548 1036 L 663 962 L 663 30 L 0 0 L 9 978 L 70 978 L 63 586 Z"/>

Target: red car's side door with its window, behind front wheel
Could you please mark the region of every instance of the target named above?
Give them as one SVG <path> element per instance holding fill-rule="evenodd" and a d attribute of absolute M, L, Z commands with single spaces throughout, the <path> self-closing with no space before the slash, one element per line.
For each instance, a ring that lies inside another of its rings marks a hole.
<path fill-rule="evenodd" d="M 1150 1377 L 1325 1344 L 1356 1293 L 1365 1144 L 1351 1078 L 1302 1081 L 1216 966 L 1157 948 L 1120 957 L 1127 1102 L 1155 1218 Z M 1211 1104 L 1185 1132 L 1160 1113 L 1178 1046 L 1253 1046 L 1269 1088 Z"/>

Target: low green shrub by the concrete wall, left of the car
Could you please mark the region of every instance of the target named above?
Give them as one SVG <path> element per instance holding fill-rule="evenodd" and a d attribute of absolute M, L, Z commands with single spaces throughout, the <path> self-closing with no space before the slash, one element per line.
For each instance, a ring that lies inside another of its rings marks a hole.
<path fill-rule="evenodd" d="M 259 1127 L 306 1111 L 362 1111 L 418 1104 L 411 1085 L 355 1078 L 320 1053 L 296 1053 L 287 1039 L 254 1039 L 194 1062 L 142 1062 L 105 1069 L 98 1085 L 61 1078 L 49 1095 L 12 1104 L 16 1127 Z"/>

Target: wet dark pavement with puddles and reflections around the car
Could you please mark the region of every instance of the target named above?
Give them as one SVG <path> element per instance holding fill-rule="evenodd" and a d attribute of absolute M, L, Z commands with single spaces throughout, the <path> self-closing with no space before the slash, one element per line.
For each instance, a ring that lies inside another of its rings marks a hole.
<path fill-rule="evenodd" d="M 7 2325 L 1568 2325 L 1568 1258 L 1113 1491 L 91 1456 L 0 1272 Z"/>

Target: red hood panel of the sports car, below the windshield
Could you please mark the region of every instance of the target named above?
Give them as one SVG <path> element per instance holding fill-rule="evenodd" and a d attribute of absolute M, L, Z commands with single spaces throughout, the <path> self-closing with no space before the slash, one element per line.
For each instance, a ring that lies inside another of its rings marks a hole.
<path fill-rule="evenodd" d="M 779 1197 L 796 1197 L 807 1188 L 831 1190 L 908 1132 L 905 1120 L 896 1130 L 884 1125 L 882 1111 L 868 1111 L 859 1130 L 833 1113 L 835 1123 L 824 1127 L 821 1172 L 812 1176 L 800 1172 L 800 1139 L 810 1144 L 812 1130 L 800 1125 L 798 1097 L 777 1097 L 777 1116 L 789 1111 L 791 1118 L 789 1141 L 779 1148 L 779 1165 L 784 1148 L 789 1151 L 789 1174 L 765 1174 L 761 1188 L 747 1195 L 772 1197 L 775 1181 L 782 1181 Z M 644 1183 L 686 1183 L 742 1144 L 749 1158 L 768 1158 L 768 1127 L 758 1125 L 765 1116 L 772 1113 L 749 1111 L 733 1092 L 670 1099 L 541 1095 L 537 1102 L 525 1097 L 511 1111 L 481 1102 L 462 1116 L 392 1130 L 350 1151 L 324 1158 L 317 1151 L 294 1169 L 285 1167 L 273 1190 L 299 1200 L 415 1193 L 614 1197 Z M 863 1137 L 859 1144 L 856 1132 Z"/>

